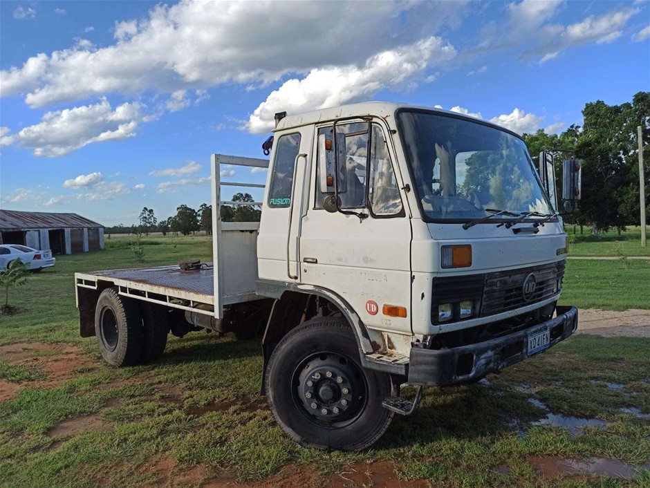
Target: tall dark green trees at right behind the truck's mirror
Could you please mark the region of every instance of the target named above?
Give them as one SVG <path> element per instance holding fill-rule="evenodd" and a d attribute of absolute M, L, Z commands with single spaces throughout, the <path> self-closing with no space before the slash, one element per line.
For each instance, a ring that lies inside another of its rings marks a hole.
<path fill-rule="evenodd" d="M 582 200 L 565 222 L 590 225 L 596 233 L 609 229 L 620 233 L 627 225 L 640 224 L 638 126 L 642 126 L 645 205 L 650 215 L 650 92 L 639 92 L 631 103 L 620 105 L 588 103 L 582 115 L 584 125 L 572 125 L 559 135 L 539 129 L 523 136 L 536 163 L 544 149 L 575 151 L 583 161 Z M 569 156 L 556 158 L 557 182 L 561 182 L 562 161 Z M 561 205 L 559 185 L 557 195 Z"/>

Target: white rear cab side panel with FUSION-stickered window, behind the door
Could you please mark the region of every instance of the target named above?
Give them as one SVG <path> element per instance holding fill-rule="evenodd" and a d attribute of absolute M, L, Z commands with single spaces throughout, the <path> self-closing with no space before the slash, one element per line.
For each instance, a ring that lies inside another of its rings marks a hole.
<path fill-rule="evenodd" d="M 275 135 L 257 238 L 261 279 L 299 281 L 298 233 L 313 133 L 313 126 L 305 126 Z"/>

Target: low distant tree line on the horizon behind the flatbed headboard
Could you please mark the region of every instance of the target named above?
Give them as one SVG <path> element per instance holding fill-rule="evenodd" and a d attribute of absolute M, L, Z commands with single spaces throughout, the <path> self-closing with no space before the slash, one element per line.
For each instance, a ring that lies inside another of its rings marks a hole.
<path fill-rule="evenodd" d="M 233 202 L 253 203 L 255 200 L 248 193 L 237 193 L 232 196 Z M 259 205 L 221 205 L 222 222 L 259 222 L 261 209 Z M 176 215 L 158 220 L 154 209 L 144 207 L 138 218 L 138 225 L 125 226 L 123 224 L 105 227 L 106 234 L 145 234 L 161 232 L 163 236 L 168 233 L 183 234 L 187 236 L 199 231 L 212 234 L 212 205 L 201 204 L 198 209 L 187 205 L 176 208 Z"/>

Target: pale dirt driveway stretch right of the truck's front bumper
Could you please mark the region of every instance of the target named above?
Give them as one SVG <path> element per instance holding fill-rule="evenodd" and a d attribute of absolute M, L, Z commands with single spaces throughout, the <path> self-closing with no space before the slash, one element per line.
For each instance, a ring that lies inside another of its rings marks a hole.
<path fill-rule="evenodd" d="M 650 337 L 650 310 L 580 309 L 577 333 L 603 337 Z"/>

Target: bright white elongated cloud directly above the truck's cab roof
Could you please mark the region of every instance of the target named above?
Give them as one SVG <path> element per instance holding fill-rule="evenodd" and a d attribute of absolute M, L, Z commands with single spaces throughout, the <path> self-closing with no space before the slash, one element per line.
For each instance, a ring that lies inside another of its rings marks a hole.
<path fill-rule="evenodd" d="M 440 37 L 429 37 L 409 46 L 384 51 L 366 59 L 364 66 L 318 68 L 303 79 L 289 79 L 268 95 L 250 115 L 245 128 L 252 133 L 274 126 L 279 111 L 300 113 L 337 106 L 370 97 L 384 88 L 414 84 L 427 67 L 456 55 Z"/>

